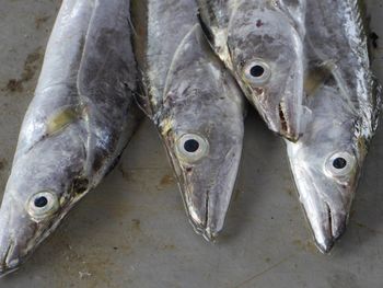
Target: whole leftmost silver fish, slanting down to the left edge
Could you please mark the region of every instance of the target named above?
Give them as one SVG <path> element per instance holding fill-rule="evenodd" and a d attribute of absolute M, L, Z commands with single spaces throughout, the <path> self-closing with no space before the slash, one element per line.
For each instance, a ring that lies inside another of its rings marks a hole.
<path fill-rule="evenodd" d="M 140 119 L 129 1 L 63 0 L 0 209 L 0 275 L 113 169 Z"/>

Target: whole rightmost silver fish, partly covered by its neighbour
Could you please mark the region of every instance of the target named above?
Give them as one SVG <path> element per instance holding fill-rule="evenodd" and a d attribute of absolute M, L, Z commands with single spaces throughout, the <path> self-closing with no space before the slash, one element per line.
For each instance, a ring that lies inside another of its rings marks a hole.
<path fill-rule="evenodd" d="M 315 243 L 328 253 L 346 230 L 379 124 L 382 88 L 371 71 L 359 1 L 306 4 L 304 102 L 311 120 L 287 151 Z"/>

